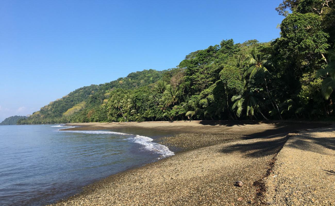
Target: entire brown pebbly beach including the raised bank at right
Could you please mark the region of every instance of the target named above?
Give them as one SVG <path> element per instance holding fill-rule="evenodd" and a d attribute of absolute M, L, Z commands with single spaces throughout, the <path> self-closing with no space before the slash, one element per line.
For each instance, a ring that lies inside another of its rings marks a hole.
<path fill-rule="evenodd" d="M 335 127 L 330 124 L 192 121 L 71 125 L 80 127 L 67 130 L 174 132 L 154 141 L 179 152 L 88 185 L 82 193 L 54 204 L 57 206 L 334 204 Z M 236 181 L 242 181 L 243 187 L 234 186 Z M 300 196 L 288 198 L 295 189 Z M 317 195 L 312 195 L 314 191 Z"/>

